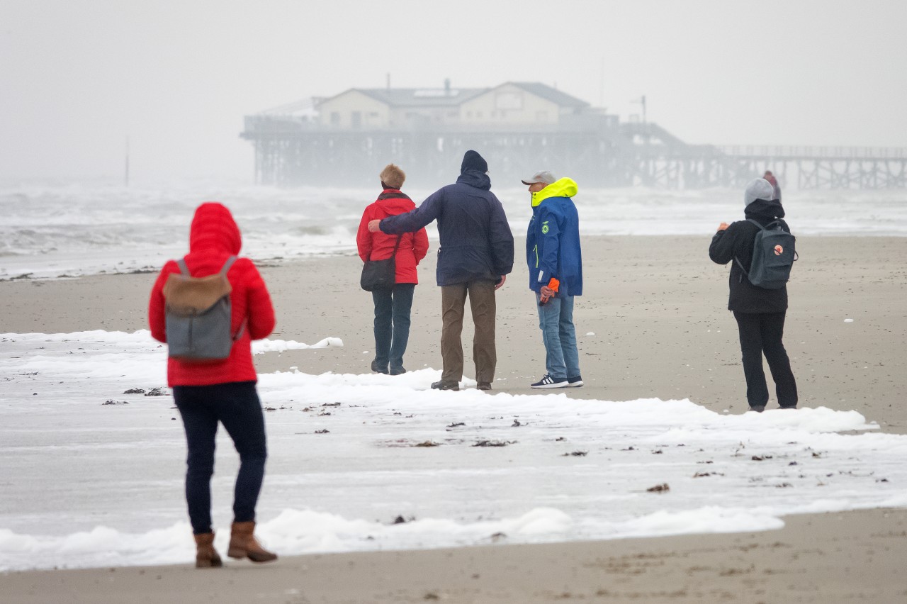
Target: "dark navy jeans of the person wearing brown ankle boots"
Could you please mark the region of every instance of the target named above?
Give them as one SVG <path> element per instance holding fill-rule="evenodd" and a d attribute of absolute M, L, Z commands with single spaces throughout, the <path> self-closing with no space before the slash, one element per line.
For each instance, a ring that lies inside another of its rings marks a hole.
<path fill-rule="evenodd" d="M 173 400 L 186 428 L 186 502 L 192 532 L 211 531 L 211 475 L 218 423 L 224 425 L 239 453 L 233 521 L 254 521 L 268 458 L 265 417 L 255 382 L 173 386 Z"/>

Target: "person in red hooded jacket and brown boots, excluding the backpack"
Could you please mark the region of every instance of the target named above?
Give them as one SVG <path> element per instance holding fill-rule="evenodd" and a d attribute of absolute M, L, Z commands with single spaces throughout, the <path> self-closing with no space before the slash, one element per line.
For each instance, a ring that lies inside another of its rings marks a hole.
<path fill-rule="evenodd" d="M 229 209 L 207 202 L 195 210 L 189 238 L 186 265 L 192 277 L 216 275 L 224 262 L 239 254 L 242 238 Z M 166 302 L 163 287 L 171 273 L 180 268 L 170 260 L 151 289 L 148 313 L 151 336 L 166 343 Z M 233 500 L 234 521 L 230 531 L 231 558 L 255 562 L 276 560 L 255 539 L 255 506 L 265 475 L 268 450 L 265 420 L 258 400 L 258 376 L 252 364 L 254 339 L 267 337 L 274 330 L 274 307 L 268 287 L 249 258 L 238 258 L 229 268 L 231 327 L 239 334 L 223 361 L 191 363 L 167 360 L 167 384 L 180 410 L 186 430 L 186 502 L 197 546 L 196 566 L 219 567 L 211 530 L 211 475 L 214 473 L 214 438 L 223 424 L 239 453 L 239 473 Z M 245 327 L 243 328 L 243 325 Z"/>

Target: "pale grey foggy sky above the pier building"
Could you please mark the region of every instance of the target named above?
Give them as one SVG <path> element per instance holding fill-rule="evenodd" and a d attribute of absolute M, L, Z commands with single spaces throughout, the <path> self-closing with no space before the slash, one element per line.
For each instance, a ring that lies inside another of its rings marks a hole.
<path fill-rule="evenodd" d="M 251 180 L 243 115 L 387 73 L 621 119 L 645 94 L 688 142 L 907 147 L 905 24 L 902 0 L 0 0 L 0 178 L 118 178 L 128 134 L 138 180 Z"/>

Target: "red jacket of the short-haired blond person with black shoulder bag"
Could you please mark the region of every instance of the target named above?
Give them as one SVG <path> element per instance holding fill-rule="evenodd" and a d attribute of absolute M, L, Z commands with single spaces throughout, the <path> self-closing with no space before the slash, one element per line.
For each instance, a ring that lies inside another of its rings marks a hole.
<path fill-rule="evenodd" d="M 415 208 L 413 200 L 397 189 L 385 189 L 375 203 L 366 207 L 359 222 L 359 231 L 356 233 L 356 247 L 359 248 L 359 258 L 366 260 L 384 260 L 390 258 L 396 245 L 396 235 L 387 235 L 378 231 L 369 232 L 368 221 L 385 219 L 388 216 L 405 214 Z M 405 233 L 400 239 L 400 248 L 396 253 L 396 282 L 418 283 L 415 267 L 425 254 L 428 253 L 428 234 L 425 229 L 414 233 Z"/>

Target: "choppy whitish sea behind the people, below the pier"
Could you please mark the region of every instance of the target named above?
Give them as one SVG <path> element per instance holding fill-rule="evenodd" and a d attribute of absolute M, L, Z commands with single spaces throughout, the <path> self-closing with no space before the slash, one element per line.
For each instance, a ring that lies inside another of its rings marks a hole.
<path fill-rule="evenodd" d="M 528 193 L 493 190 L 515 234 L 528 222 Z M 212 184 L 122 187 L 99 181 L 0 183 L 0 279 L 155 270 L 185 253 L 192 212 L 217 200 L 234 213 L 243 254 L 281 261 L 351 254 L 362 210 L 379 191 L 282 190 Z M 431 190 L 406 190 L 418 204 Z M 701 235 L 743 218 L 738 190 L 582 189 L 574 198 L 586 235 Z M 797 235 L 907 236 L 907 191 L 785 191 Z M 434 226 L 429 237 L 436 237 Z"/>

